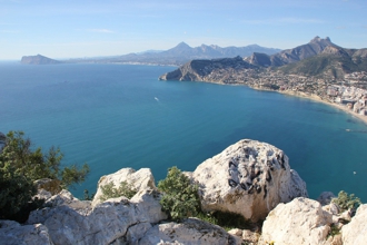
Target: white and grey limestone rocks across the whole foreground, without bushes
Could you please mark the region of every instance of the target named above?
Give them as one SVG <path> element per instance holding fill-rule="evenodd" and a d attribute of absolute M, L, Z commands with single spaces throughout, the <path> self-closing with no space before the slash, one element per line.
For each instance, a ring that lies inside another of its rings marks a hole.
<path fill-rule="evenodd" d="M 367 205 L 351 218 L 330 204 L 333 194 L 307 198 L 305 182 L 290 169 L 285 153 L 269 144 L 240 140 L 186 173 L 199 185 L 205 212 L 234 212 L 262 227 L 228 233 L 198 218 L 167 220 L 161 195 L 148 168 L 122 168 L 102 176 L 92 202 L 69 192 L 52 195 L 43 188 L 43 208 L 26 224 L 0 220 L 1 244 L 364 244 Z M 127 182 L 138 189 L 130 199 L 101 203 L 101 186 Z M 44 187 L 44 185 L 43 185 Z M 44 187 L 46 188 L 46 187 Z M 259 223 L 258 223 L 259 224 Z M 340 229 L 333 234 L 333 229 Z"/>

